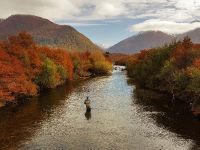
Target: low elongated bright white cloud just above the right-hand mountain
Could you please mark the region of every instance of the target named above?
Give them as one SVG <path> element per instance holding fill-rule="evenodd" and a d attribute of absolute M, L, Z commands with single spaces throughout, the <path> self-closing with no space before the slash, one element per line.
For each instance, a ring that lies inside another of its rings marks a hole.
<path fill-rule="evenodd" d="M 178 23 L 173 21 L 162 21 L 158 19 L 151 19 L 144 21 L 139 24 L 130 26 L 131 32 L 142 32 L 142 31 L 163 31 L 170 34 L 179 34 L 193 30 L 200 27 L 200 22 L 193 23 Z"/>

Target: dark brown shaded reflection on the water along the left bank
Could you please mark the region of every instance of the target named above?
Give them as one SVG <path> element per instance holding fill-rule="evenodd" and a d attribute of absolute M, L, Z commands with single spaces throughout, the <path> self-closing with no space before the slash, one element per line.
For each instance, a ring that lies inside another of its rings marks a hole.
<path fill-rule="evenodd" d="M 0 109 L 0 149 L 13 149 L 33 135 L 72 90 L 72 85 L 60 86 L 18 105 Z"/>

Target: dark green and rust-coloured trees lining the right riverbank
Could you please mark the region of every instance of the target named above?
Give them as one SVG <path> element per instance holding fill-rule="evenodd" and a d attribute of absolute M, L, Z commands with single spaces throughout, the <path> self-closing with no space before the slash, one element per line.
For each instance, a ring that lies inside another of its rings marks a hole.
<path fill-rule="evenodd" d="M 200 45 L 189 37 L 128 57 L 127 71 L 137 86 L 188 104 L 200 98 Z"/>

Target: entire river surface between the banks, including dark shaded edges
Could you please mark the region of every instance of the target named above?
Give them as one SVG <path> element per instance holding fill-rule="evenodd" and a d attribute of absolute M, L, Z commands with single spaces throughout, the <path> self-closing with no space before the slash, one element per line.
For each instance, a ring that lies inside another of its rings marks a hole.
<path fill-rule="evenodd" d="M 198 120 L 152 102 L 127 81 L 125 72 L 114 71 L 1 109 L 0 149 L 198 149 Z M 91 113 L 85 112 L 86 96 Z"/>

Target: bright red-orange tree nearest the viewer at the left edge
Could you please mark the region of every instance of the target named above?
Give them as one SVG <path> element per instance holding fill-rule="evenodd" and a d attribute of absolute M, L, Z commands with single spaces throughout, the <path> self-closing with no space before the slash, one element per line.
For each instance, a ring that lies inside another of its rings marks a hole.
<path fill-rule="evenodd" d="M 27 79 L 22 63 L 0 49 L 0 100 L 14 100 L 37 93 L 37 87 Z"/>

